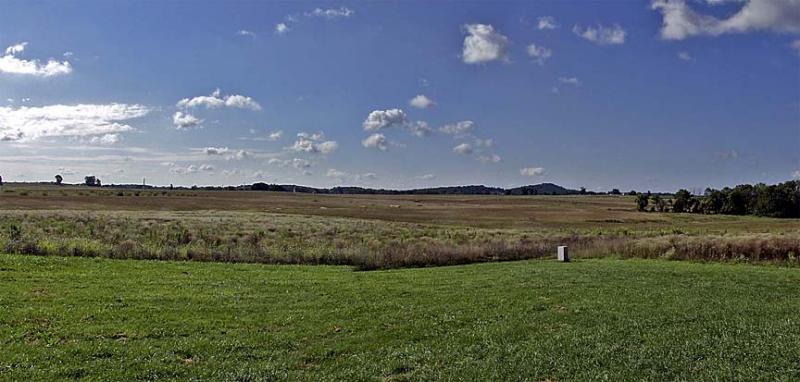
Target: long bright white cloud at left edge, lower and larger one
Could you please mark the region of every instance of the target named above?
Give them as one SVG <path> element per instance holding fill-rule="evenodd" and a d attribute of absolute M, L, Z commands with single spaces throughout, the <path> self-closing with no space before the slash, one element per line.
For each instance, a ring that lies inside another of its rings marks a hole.
<path fill-rule="evenodd" d="M 0 107 L 0 140 L 30 141 L 45 137 L 90 137 L 133 130 L 123 122 L 150 112 L 142 105 L 79 104 Z"/>

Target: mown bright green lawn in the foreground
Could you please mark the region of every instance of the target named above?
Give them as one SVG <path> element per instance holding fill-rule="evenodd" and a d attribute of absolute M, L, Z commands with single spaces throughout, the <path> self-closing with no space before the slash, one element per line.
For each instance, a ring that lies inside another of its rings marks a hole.
<path fill-rule="evenodd" d="M 798 380 L 800 270 L 0 256 L 0 380 Z"/>

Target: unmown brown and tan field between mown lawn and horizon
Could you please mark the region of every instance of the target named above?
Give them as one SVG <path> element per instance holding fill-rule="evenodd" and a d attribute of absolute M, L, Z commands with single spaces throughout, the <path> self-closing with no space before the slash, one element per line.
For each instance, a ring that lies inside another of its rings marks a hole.
<path fill-rule="evenodd" d="M 800 222 L 635 211 L 613 196 L 363 196 L 6 187 L 7 253 L 354 265 L 552 256 L 800 263 Z"/>

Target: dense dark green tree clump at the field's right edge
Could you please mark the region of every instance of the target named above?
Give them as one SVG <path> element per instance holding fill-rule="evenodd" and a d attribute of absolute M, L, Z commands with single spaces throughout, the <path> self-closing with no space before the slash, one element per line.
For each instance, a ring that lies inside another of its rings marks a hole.
<path fill-rule="evenodd" d="M 702 196 L 683 189 L 671 197 L 648 192 L 636 196 L 636 207 L 651 212 L 800 218 L 800 180 L 775 185 L 742 184 L 721 190 L 707 188 Z"/>

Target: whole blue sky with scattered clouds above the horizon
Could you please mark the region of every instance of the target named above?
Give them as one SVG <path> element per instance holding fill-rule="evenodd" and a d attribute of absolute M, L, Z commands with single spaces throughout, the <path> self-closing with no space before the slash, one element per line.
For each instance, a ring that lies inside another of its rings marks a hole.
<path fill-rule="evenodd" d="M 800 0 L 3 2 L 3 51 L 7 181 L 800 177 Z"/>

